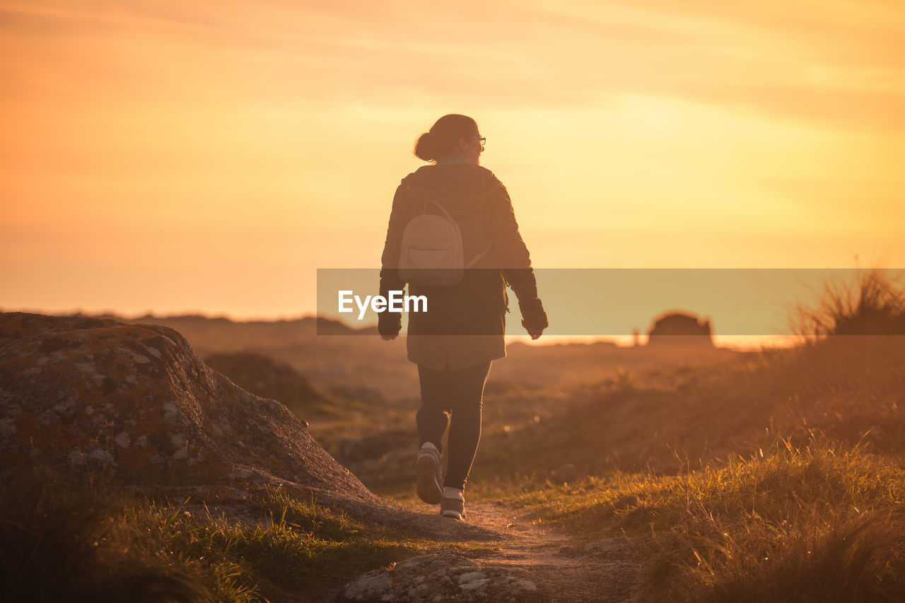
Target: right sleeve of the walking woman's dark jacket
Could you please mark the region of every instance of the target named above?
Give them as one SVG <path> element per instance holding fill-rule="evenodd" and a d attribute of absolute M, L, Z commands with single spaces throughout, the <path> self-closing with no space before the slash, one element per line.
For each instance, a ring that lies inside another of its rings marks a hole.
<path fill-rule="evenodd" d="M 528 246 L 519 234 L 515 210 L 506 187 L 494 196 L 491 203 L 491 243 L 496 249 L 503 277 L 519 298 L 521 324 L 526 329 L 543 330 L 548 327 L 547 313 L 538 299 L 538 283 L 531 268 Z"/>

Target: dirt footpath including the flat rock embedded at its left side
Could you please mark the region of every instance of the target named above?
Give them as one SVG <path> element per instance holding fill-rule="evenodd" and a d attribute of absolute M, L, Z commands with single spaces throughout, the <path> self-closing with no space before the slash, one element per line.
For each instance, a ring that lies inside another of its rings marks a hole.
<path fill-rule="evenodd" d="M 441 517 L 429 505 L 410 511 L 409 527 L 433 533 L 436 540 L 477 541 L 498 550 L 476 555 L 439 550 L 409 558 L 349 582 L 340 589 L 339 601 L 638 600 L 641 565 L 633 560 L 638 545 L 629 539 L 581 546 L 501 501 L 467 503 L 465 522 Z"/>

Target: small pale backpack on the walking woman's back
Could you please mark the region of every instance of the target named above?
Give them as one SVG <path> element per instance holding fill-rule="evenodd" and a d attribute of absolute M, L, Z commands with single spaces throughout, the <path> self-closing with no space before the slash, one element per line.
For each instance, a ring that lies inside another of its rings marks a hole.
<path fill-rule="evenodd" d="M 437 206 L 443 215 L 427 213 Z M 436 201 L 424 204 L 421 215 L 405 225 L 399 254 L 399 280 L 427 287 L 454 287 L 462 282 L 466 268 L 471 268 L 491 250 L 487 245 L 480 254 L 465 263 L 462 252 L 462 230 L 452 216 Z"/>

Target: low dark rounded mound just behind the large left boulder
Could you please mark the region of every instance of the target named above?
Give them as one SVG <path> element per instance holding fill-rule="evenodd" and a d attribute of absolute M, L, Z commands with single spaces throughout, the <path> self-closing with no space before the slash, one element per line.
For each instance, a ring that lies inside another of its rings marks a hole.
<path fill-rule="evenodd" d="M 284 362 L 252 351 L 211 354 L 205 364 L 218 370 L 240 388 L 255 396 L 281 402 L 300 419 L 321 414 L 329 397 L 311 387 L 307 378 Z"/>

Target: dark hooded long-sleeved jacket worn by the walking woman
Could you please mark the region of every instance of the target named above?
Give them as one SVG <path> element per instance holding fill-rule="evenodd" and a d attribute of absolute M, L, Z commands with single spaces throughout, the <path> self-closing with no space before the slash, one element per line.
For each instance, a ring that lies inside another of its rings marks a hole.
<path fill-rule="evenodd" d="M 458 163 L 424 166 L 396 188 L 380 272 L 380 292 L 402 290 L 397 267 L 405 225 L 424 212 L 428 200 L 440 202 L 462 230 L 465 262 L 487 249 L 454 287 L 412 285 L 410 295 L 425 295 L 427 312 L 411 312 L 408 359 L 443 369 L 460 369 L 506 355 L 507 283 L 519 299 L 523 326 L 547 327 L 538 299 L 528 248 L 519 235 L 509 193 L 487 168 Z M 438 213 L 429 206 L 429 213 Z M 378 330 L 395 335 L 402 325 L 397 312 L 382 312 Z"/>

